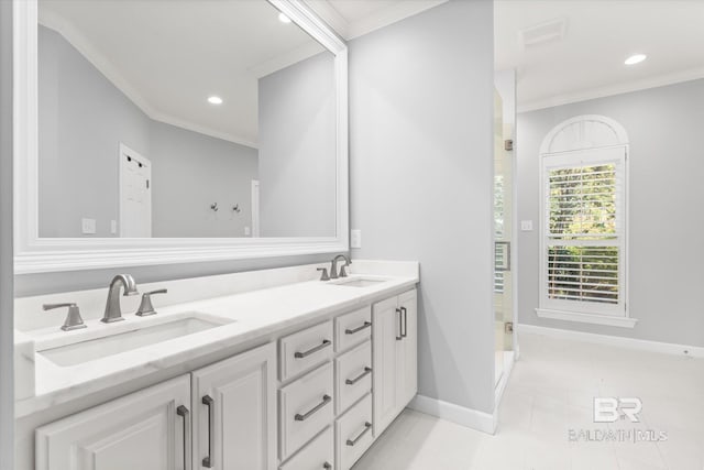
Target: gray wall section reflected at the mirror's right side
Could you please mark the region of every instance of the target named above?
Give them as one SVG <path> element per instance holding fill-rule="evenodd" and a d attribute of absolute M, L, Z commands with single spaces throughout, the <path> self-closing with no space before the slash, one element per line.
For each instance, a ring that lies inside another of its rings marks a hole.
<path fill-rule="evenodd" d="M 334 56 L 260 79 L 262 237 L 336 234 Z"/>

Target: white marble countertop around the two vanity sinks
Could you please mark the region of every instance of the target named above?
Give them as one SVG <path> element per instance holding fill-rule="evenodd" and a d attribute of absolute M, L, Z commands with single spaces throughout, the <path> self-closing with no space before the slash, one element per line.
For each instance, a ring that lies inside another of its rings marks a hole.
<path fill-rule="evenodd" d="M 29 338 L 33 340 L 34 349 L 41 351 L 74 342 L 79 337 L 80 341 L 86 341 L 114 331 L 168 323 L 190 313 L 198 313 L 216 323 L 224 323 L 205 331 L 76 365 L 59 367 L 41 353 L 34 354 L 34 396 L 15 402 L 15 416 L 26 416 L 157 371 L 177 368 L 187 361 L 217 354 L 223 348 L 271 338 L 296 325 L 317 319 L 322 321 L 333 314 L 362 307 L 385 295 L 411 288 L 419 282 L 418 263 L 392 263 L 385 266 L 384 263 L 360 262 L 352 270 L 351 276 L 377 277 L 385 282 L 364 287 L 320 281 L 297 282 L 162 307 L 157 315 L 151 317 L 124 315 L 125 320 L 118 324 L 106 325 L 97 318 L 88 319 L 88 328 L 76 331 L 61 331 L 56 327 L 24 331 L 19 335 L 24 343 Z"/>

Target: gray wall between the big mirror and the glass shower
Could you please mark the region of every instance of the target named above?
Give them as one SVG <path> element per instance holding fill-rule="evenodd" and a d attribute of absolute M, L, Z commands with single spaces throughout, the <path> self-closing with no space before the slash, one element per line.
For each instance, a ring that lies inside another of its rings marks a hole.
<path fill-rule="evenodd" d="M 418 260 L 419 393 L 491 413 L 493 4 L 450 1 L 350 43 L 355 256 Z"/>

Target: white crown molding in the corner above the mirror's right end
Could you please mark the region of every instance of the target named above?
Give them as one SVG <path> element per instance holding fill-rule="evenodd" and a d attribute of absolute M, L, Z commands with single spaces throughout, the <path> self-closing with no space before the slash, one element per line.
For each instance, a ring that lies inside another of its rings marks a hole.
<path fill-rule="evenodd" d="M 316 14 L 346 41 L 388 26 L 389 24 L 438 7 L 447 1 L 448 0 L 400 0 L 356 21 L 348 21 L 328 1 L 304 0 L 308 8 L 315 11 Z"/>

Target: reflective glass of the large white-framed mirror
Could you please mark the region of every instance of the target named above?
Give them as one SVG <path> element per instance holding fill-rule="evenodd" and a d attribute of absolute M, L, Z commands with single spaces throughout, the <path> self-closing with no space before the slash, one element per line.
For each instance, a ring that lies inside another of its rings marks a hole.
<path fill-rule="evenodd" d="M 41 238 L 336 236 L 334 56 L 266 0 L 40 0 Z"/>

